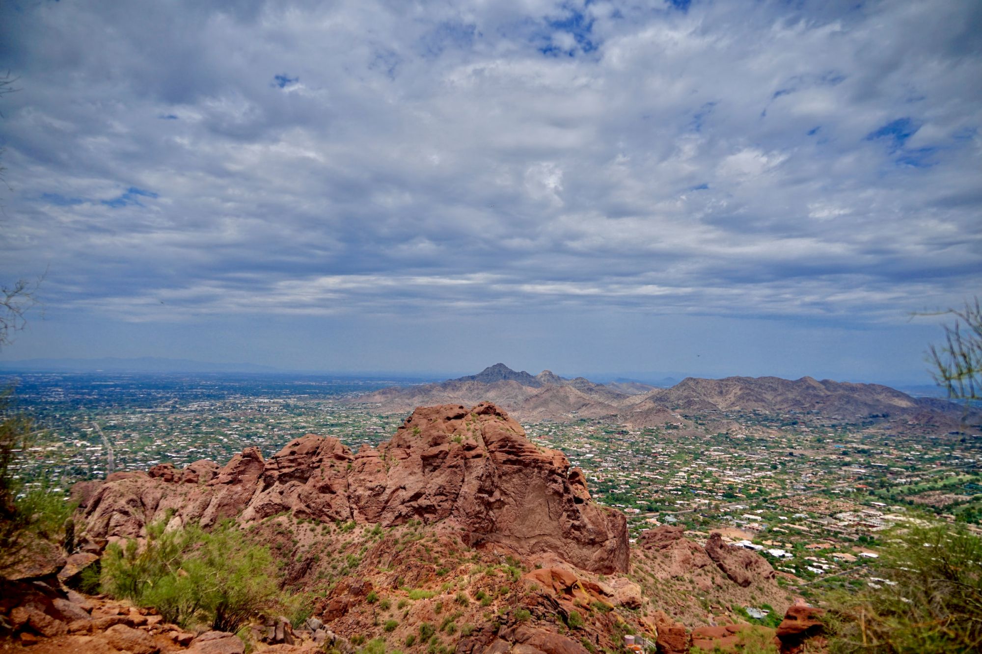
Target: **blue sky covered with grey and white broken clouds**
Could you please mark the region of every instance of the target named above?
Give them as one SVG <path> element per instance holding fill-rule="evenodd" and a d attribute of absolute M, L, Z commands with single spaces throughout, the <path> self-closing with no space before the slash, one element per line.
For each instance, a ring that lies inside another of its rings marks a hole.
<path fill-rule="evenodd" d="M 5 0 L 4 349 L 917 380 L 982 4 Z"/>

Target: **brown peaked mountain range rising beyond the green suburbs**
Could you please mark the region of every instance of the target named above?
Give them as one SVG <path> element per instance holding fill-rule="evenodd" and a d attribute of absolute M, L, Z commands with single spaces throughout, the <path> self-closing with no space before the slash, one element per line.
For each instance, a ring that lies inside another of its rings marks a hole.
<path fill-rule="evenodd" d="M 493 402 L 518 419 L 570 420 L 606 417 L 630 427 L 674 423 L 691 426 L 695 413 L 815 411 L 829 417 L 904 416 L 920 424 L 956 425 L 962 409 L 945 400 L 913 398 L 880 384 L 855 384 L 811 377 L 687 377 L 671 388 L 640 382 L 597 384 L 583 377 L 566 379 L 549 370 L 537 375 L 496 363 L 476 375 L 444 382 L 393 387 L 355 400 L 384 411 L 415 407 Z"/>

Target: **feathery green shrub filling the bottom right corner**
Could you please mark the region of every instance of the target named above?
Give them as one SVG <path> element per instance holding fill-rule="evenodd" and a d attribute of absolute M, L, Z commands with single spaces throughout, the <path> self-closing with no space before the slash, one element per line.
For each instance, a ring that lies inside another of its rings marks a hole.
<path fill-rule="evenodd" d="M 911 528 L 881 552 L 880 588 L 825 597 L 830 649 L 978 651 L 982 642 L 982 538 L 952 525 Z"/>

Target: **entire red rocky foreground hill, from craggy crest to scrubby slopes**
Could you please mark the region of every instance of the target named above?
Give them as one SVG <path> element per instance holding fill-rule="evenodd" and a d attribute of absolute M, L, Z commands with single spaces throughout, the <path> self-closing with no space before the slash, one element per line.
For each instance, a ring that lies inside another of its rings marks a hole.
<path fill-rule="evenodd" d="M 745 629 L 724 607 L 753 596 L 788 607 L 760 556 L 704 543 L 681 527 L 644 533 L 594 503 L 582 472 L 528 441 L 481 403 L 415 409 L 393 438 L 352 452 L 306 435 L 264 460 L 163 463 L 73 489 L 70 552 L 49 552 L 0 593 L 7 649 L 35 652 L 329 651 L 366 639 L 449 654 L 594 654 L 697 645 L 738 649 Z M 280 585 L 308 599 L 290 619 L 255 615 L 238 634 L 165 624 L 147 608 L 74 590 L 111 542 L 234 520 L 280 562 Z M 700 605 L 691 588 L 712 598 Z M 817 610 L 791 606 L 763 635 L 782 652 L 815 642 Z"/>

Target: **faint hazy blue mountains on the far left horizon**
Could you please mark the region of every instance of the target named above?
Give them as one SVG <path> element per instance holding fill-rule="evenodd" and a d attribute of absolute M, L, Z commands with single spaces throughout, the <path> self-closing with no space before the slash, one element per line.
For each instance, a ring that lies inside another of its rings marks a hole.
<path fill-rule="evenodd" d="M 0 361 L 0 370 L 16 372 L 279 372 L 255 363 L 212 363 L 187 358 L 140 356 L 138 358 L 26 358 Z"/>

